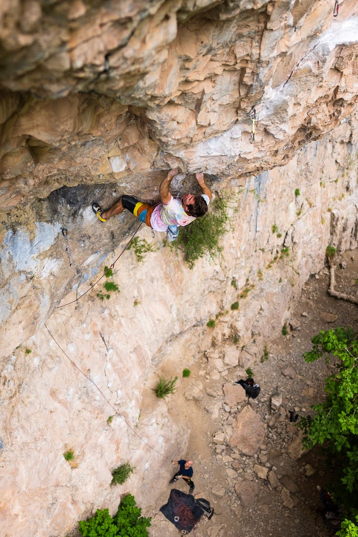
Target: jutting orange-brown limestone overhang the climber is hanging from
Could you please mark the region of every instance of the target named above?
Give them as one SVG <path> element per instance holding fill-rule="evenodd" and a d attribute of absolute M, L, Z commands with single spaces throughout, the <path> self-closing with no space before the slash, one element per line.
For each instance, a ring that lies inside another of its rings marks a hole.
<path fill-rule="evenodd" d="M 355 2 L 337 18 L 320 1 L 144 4 L 1 8 L 5 355 L 135 230 L 119 219 L 99 242 L 93 199 L 158 199 L 173 166 L 186 188 L 199 170 L 245 186 L 357 110 Z"/>

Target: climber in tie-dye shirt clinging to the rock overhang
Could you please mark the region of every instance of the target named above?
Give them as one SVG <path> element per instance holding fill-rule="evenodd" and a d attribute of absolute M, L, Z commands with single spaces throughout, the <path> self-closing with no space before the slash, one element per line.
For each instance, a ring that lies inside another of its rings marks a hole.
<path fill-rule="evenodd" d="M 111 216 L 121 214 L 127 209 L 141 222 L 155 231 L 166 231 L 168 241 L 174 241 L 178 236 L 178 227 L 187 226 L 196 218 L 203 216 L 211 200 L 211 192 L 204 181 L 203 173 L 195 173 L 195 178 L 201 188 L 202 194 L 184 194 L 182 198 L 173 198 L 169 191 L 170 183 L 178 173 L 178 168 L 170 170 L 159 186 L 159 195 L 162 200 L 157 205 L 147 205 L 133 196 L 122 195 L 112 207 L 104 211 L 96 201 L 92 209 L 101 222 L 106 222 Z"/>

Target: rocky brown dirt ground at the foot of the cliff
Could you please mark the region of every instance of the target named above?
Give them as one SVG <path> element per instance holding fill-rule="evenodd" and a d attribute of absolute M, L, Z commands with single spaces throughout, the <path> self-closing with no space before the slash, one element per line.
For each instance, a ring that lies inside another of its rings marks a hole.
<path fill-rule="evenodd" d="M 356 295 L 358 251 L 346 252 L 340 262 L 336 271 L 337 290 Z M 215 380 L 210 378 L 207 360 L 202 357 L 186 379 L 186 389 L 177 390 L 171 399 L 170 412 L 179 408 L 182 426 L 191 426 L 188 452 L 194 460 L 194 496 L 209 499 L 218 513 L 210 521 L 200 522 L 192 532 L 195 537 L 332 535 L 332 530 L 324 525 L 319 501 L 319 487 L 325 485 L 328 470 L 318 448 L 302 455 L 297 427 L 289 421 L 289 410 L 307 415 L 312 404 L 323 400 L 324 379 L 332 372 L 333 365 L 326 365 L 323 360 L 314 364 L 304 362 L 302 353 L 310 349 L 310 339 L 319 330 L 335 326 L 353 326 L 358 330 L 356 304 L 330 297 L 327 288 L 327 269 L 306 282 L 301 299 L 291 307 L 296 328 L 287 336 L 267 342 L 268 359 L 252 368 L 261 386 L 261 394 L 252 402 L 252 408 L 267 426 L 265 440 L 254 455 L 238 455 L 227 442 L 223 447 L 213 442 L 215 433 L 228 434 L 233 417 L 240 411 L 225 409 L 222 390 L 225 382 L 237 380 L 236 368 Z M 198 381 L 203 386 L 199 391 Z M 192 398 L 188 395 L 191 386 Z M 282 403 L 273 413 L 271 396 L 275 392 L 282 397 Z M 258 471 L 267 471 L 267 476 L 260 477 Z M 169 468 L 169 478 L 171 474 Z M 182 480 L 177 488 L 188 492 Z M 170 489 L 169 483 L 163 487 L 160 505 L 167 502 Z M 146 514 L 153 517 L 151 536 L 178 535 L 178 530 L 158 512 L 158 506 Z"/>

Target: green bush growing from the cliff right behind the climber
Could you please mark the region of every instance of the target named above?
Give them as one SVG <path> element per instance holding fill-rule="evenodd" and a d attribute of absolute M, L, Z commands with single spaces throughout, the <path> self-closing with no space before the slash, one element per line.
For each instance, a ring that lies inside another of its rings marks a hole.
<path fill-rule="evenodd" d="M 221 258 L 223 246 L 220 239 L 227 232 L 229 201 L 220 195 L 210 204 L 209 211 L 190 224 L 180 228 L 176 241 L 170 243 L 172 249 L 185 253 L 189 269 L 195 261 L 209 254 L 210 259 Z"/>

